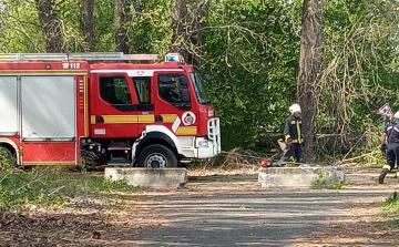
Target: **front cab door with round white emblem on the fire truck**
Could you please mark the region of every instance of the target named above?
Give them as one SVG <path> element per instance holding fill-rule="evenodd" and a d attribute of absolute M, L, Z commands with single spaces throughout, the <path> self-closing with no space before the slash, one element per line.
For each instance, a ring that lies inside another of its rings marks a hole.
<path fill-rule="evenodd" d="M 162 123 L 177 136 L 195 136 L 198 107 L 192 84 L 182 72 L 155 72 L 155 122 Z"/>

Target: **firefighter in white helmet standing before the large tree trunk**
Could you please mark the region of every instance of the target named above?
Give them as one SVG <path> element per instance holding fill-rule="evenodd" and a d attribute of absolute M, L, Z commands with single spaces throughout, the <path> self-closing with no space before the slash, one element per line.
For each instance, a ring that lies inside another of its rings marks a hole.
<path fill-rule="evenodd" d="M 286 150 L 283 156 L 284 162 L 295 154 L 297 163 L 305 163 L 305 154 L 303 148 L 304 135 L 301 132 L 301 119 L 300 119 L 300 106 L 293 104 L 289 106 L 290 116 L 287 117 L 284 124 L 284 136 L 286 141 Z"/>

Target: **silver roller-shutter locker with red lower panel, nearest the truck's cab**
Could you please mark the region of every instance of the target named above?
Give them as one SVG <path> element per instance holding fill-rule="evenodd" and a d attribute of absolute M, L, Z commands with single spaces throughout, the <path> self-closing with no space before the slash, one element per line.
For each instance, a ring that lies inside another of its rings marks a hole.
<path fill-rule="evenodd" d="M 21 76 L 23 165 L 75 165 L 76 93 L 73 75 Z"/>

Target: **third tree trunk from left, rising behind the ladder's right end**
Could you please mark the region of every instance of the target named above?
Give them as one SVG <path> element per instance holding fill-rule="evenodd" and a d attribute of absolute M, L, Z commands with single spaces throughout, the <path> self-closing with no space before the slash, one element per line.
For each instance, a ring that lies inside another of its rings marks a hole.
<path fill-rule="evenodd" d="M 129 21 L 129 0 L 115 0 L 115 51 L 129 53 L 129 34 L 126 22 Z"/>

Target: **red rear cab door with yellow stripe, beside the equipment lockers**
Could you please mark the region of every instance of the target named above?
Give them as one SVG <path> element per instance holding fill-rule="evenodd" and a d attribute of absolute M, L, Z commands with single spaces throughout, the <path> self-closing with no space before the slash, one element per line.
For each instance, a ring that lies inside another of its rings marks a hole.
<path fill-rule="evenodd" d="M 91 83 L 91 135 L 136 137 L 139 109 L 132 79 L 125 73 L 96 73 Z"/>

